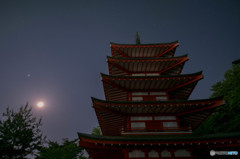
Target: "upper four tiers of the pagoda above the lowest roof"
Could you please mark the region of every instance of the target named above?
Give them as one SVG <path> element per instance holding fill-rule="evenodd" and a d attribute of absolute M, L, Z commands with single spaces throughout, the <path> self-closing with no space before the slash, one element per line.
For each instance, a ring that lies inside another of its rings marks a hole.
<path fill-rule="evenodd" d="M 109 75 L 101 74 L 106 100 L 92 98 L 103 135 L 189 134 L 222 105 L 188 100 L 203 75 L 181 74 L 189 59 L 174 56 L 178 45 L 111 43 Z"/>

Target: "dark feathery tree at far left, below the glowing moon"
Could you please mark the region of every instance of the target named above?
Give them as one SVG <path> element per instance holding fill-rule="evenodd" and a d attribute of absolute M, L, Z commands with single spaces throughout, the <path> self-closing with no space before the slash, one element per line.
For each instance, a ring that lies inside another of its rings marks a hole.
<path fill-rule="evenodd" d="M 36 154 L 45 140 L 41 125 L 41 119 L 33 116 L 28 104 L 18 112 L 7 108 L 0 118 L 0 158 L 22 159 Z"/>

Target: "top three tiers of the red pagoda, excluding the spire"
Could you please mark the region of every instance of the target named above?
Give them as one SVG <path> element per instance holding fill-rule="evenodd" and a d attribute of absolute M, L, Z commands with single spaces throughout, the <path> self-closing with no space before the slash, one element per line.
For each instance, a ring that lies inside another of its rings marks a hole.
<path fill-rule="evenodd" d="M 109 74 L 101 74 L 109 101 L 187 100 L 202 73 L 181 75 L 187 55 L 173 57 L 178 42 L 111 43 Z"/>

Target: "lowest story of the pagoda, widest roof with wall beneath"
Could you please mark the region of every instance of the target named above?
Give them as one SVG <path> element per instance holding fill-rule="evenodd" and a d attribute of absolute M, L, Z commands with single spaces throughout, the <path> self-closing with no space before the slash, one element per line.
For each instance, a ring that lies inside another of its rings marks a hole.
<path fill-rule="evenodd" d="M 240 132 L 205 136 L 78 135 L 79 146 L 84 147 L 92 159 L 210 158 L 217 155 L 214 153 L 217 151 L 237 152 L 235 157 L 239 157 L 240 150 Z"/>

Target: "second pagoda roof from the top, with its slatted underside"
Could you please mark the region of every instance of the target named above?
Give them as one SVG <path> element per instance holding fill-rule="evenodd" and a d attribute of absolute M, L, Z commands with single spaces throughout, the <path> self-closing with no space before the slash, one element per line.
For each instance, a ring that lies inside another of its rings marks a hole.
<path fill-rule="evenodd" d="M 131 73 L 180 74 L 187 54 L 178 57 L 119 58 L 107 56 L 110 75 L 129 75 Z M 111 67 L 112 66 L 112 67 Z"/>

